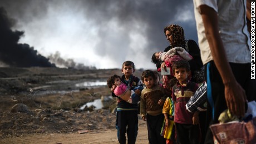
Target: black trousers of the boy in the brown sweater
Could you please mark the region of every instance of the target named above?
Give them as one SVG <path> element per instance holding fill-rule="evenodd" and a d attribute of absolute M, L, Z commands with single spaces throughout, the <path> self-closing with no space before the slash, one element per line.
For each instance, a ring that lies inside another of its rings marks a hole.
<path fill-rule="evenodd" d="M 147 134 L 150 144 L 166 143 L 165 138 L 160 135 L 164 122 L 164 114 L 157 116 L 147 115 Z"/>

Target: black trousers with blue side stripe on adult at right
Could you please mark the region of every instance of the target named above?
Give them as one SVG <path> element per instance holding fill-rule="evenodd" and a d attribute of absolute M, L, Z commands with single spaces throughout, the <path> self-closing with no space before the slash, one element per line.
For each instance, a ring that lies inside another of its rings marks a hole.
<path fill-rule="evenodd" d="M 250 63 L 239 64 L 229 63 L 237 82 L 244 88 L 248 101 L 256 100 L 256 80 L 250 79 Z M 209 78 L 207 80 L 207 73 Z M 208 128 L 205 143 L 214 143 L 213 133 L 209 128 L 214 123 L 219 123 L 218 118 L 221 112 L 226 110 L 227 104 L 225 100 L 224 85 L 213 61 L 205 64 L 205 80 L 209 84 L 207 85 L 207 91 L 211 89 L 210 95 L 208 95 L 207 112 L 206 112 L 206 126 Z M 211 106 L 213 105 L 213 107 Z"/>

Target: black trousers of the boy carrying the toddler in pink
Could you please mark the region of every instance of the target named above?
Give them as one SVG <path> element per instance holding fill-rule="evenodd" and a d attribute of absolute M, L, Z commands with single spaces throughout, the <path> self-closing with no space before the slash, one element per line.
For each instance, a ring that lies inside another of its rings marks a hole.
<path fill-rule="evenodd" d="M 117 111 L 116 129 L 119 143 L 126 143 L 125 133 L 127 133 L 128 144 L 134 144 L 138 133 L 137 111 Z"/>

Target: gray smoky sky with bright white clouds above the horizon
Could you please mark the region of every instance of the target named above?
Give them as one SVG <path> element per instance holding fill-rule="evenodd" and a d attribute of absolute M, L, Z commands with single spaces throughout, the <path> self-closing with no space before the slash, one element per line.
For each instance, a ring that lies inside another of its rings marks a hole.
<path fill-rule="evenodd" d="M 42 56 L 96 68 L 155 68 L 151 56 L 169 46 L 164 27 L 179 24 L 197 42 L 193 1 L 174 0 L 1 0 L 27 43 Z"/>

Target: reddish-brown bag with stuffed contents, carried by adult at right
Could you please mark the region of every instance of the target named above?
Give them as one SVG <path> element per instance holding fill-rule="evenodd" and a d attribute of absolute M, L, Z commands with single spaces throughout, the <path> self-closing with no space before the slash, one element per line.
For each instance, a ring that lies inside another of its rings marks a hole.
<path fill-rule="evenodd" d="M 214 143 L 256 143 L 256 102 L 248 103 L 248 110 L 243 121 L 231 121 L 210 126 Z M 228 117 L 230 115 L 228 114 Z M 220 118 L 219 118 L 220 120 Z"/>

